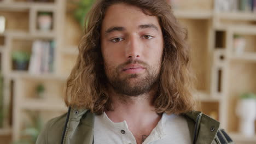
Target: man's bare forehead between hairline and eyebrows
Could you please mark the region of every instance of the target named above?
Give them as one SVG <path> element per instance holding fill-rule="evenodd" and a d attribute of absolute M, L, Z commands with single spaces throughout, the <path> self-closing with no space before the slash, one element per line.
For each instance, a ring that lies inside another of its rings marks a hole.
<path fill-rule="evenodd" d="M 144 14 L 138 7 L 128 4 L 113 4 L 106 10 L 102 22 L 102 30 L 104 31 L 114 26 L 137 27 L 148 23 L 153 23 L 160 27 L 156 16 Z"/>

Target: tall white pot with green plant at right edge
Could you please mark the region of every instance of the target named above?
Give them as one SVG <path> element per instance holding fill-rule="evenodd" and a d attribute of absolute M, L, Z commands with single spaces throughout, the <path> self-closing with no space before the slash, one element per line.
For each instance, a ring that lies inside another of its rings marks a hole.
<path fill-rule="evenodd" d="M 256 119 L 256 95 L 243 93 L 240 95 L 236 107 L 236 114 L 240 117 L 239 131 L 245 136 L 254 136 Z"/>

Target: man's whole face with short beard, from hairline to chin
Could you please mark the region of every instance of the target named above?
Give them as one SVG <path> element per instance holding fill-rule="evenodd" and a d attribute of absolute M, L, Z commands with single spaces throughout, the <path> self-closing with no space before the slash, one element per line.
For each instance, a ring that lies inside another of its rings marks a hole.
<path fill-rule="evenodd" d="M 156 16 L 127 4 L 111 5 L 102 22 L 104 69 L 114 91 L 140 95 L 159 79 L 164 41 Z"/>

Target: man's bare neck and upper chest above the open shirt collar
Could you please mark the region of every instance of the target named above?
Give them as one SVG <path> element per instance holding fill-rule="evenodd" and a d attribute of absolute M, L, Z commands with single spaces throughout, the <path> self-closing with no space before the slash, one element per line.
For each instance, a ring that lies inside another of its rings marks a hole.
<path fill-rule="evenodd" d="M 152 98 L 155 94 L 156 91 L 150 91 L 149 93 L 132 97 L 112 91 L 109 95 L 112 99 L 113 110 L 106 111 L 106 114 L 112 122 L 126 121 L 133 134 L 143 133 L 149 135 L 161 119 L 161 115 L 154 111 L 154 106 L 152 105 Z M 124 101 L 122 100 L 124 97 L 129 97 L 129 99 Z"/>

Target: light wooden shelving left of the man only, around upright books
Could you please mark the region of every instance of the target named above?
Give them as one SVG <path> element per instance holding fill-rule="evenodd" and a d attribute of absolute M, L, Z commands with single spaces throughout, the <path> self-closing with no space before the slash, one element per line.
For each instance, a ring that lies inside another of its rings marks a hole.
<path fill-rule="evenodd" d="M 37 24 L 39 12 L 51 13 L 50 31 L 39 30 Z M 0 61 L 4 76 L 4 110 L 6 113 L 4 127 L 0 128 L 0 143 L 7 143 L 7 141 L 2 141 L 4 139 L 2 136 L 10 135 L 11 141 L 22 138 L 22 130 L 26 128 L 26 120 L 29 119 L 30 112 L 40 113 L 44 116 L 43 123 L 45 123 L 50 118 L 67 111 L 62 100 L 67 76 L 61 75 L 60 70 L 65 3 L 60 0 L 51 2 L 3 0 L 0 2 L 0 15 L 6 19 L 6 30 L 0 34 Z M 28 70 L 13 69 L 11 53 L 15 50 L 31 53 L 35 40 L 55 42 L 53 73 L 31 74 Z M 3 45 L 1 45 L 2 41 Z M 43 98 L 38 98 L 35 92 L 39 83 L 43 83 L 45 87 Z"/>

